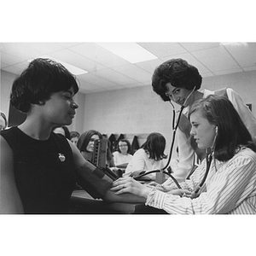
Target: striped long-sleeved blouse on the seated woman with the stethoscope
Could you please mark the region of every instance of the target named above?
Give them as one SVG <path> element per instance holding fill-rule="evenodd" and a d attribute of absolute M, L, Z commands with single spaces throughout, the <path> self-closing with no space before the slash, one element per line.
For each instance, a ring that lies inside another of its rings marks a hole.
<path fill-rule="evenodd" d="M 195 189 L 206 171 L 203 160 L 183 188 Z M 170 179 L 165 189 L 177 189 Z M 226 162 L 212 160 L 201 195 L 195 199 L 180 197 L 152 189 L 146 205 L 172 214 L 255 214 L 256 154 L 249 148 L 241 150 Z"/>

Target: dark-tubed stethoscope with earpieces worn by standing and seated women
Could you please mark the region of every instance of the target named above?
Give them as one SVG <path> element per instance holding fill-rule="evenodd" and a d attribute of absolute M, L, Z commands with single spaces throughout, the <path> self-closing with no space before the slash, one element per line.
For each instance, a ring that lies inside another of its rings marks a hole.
<path fill-rule="evenodd" d="M 181 119 L 181 115 L 183 113 L 183 109 L 185 108 L 185 105 L 186 103 L 188 102 L 189 100 L 189 97 L 192 95 L 192 93 L 195 91 L 195 87 L 193 90 L 191 90 L 191 92 L 189 93 L 189 96 L 186 97 L 186 100 L 183 102 L 183 105 L 181 106 L 180 110 L 179 110 L 179 114 L 177 116 L 177 122 L 176 122 L 176 125 L 175 125 L 175 116 L 176 116 L 176 112 L 175 112 L 175 107 L 174 105 L 172 104 L 172 102 L 170 101 L 171 105 L 172 105 L 172 111 L 173 111 L 173 115 L 172 115 L 172 143 L 171 143 L 171 148 L 170 148 L 170 154 L 169 154 L 169 157 L 168 157 L 168 160 L 167 160 L 167 163 L 166 163 L 166 166 L 163 167 L 162 169 L 160 170 L 153 170 L 153 171 L 148 171 L 148 172 L 141 172 L 137 177 L 134 177 L 134 179 L 140 179 L 141 177 L 143 176 L 146 176 L 150 173 L 155 173 L 155 172 L 161 172 L 161 173 L 164 173 L 166 174 L 167 176 L 171 177 L 173 182 L 177 185 L 177 188 L 178 189 L 182 189 L 180 184 L 177 182 L 177 179 L 175 177 L 172 176 L 172 169 L 171 167 L 169 166 L 170 164 L 170 161 L 172 159 L 172 151 L 173 151 L 173 146 L 174 146 L 174 142 L 175 142 L 175 137 L 176 137 L 176 131 L 177 131 L 177 126 L 179 125 L 179 121 Z M 216 138 L 216 137 L 215 137 Z M 214 143 L 213 145 L 215 144 L 215 139 L 214 139 Z M 208 175 L 208 172 L 210 170 L 210 166 L 211 166 L 211 163 L 212 163 L 212 155 L 213 155 L 213 147 L 212 148 L 207 148 L 207 156 L 206 156 L 206 160 L 207 160 L 207 170 L 205 172 L 205 175 L 203 177 L 203 179 L 201 180 L 201 183 L 198 185 L 198 187 L 195 189 L 195 191 L 193 191 L 192 195 L 191 195 L 191 198 L 195 198 L 198 196 L 198 193 L 201 189 L 201 187 L 203 186 L 203 184 L 206 182 L 206 179 L 207 179 L 207 175 Z M 165 171 L 167 170 L 167 172 Z M 191 172 L 194 172 L 195 169 L 192 169 Z M 189 173 L 189 176 L 191 175 L 191 173 Z M 188 177 L 189 177 L 188 176 Z"/>

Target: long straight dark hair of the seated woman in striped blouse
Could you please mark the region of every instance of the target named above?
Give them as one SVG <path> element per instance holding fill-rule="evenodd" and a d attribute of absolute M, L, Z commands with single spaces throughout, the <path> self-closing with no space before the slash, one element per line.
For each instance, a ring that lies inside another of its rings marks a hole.
<path fill-rule="evenodd" d="M 241 146 L 256 152 L 251 134 L 236 112 L 236 108 L 226 97 L 207 96 L 194 102 L 189 108 L 189 118 L 191 113 L 196 111 L 201 111 L 210 124 L 218 126 L 214 148 L 214 157 L 217 160 L 230 160 Z"/>

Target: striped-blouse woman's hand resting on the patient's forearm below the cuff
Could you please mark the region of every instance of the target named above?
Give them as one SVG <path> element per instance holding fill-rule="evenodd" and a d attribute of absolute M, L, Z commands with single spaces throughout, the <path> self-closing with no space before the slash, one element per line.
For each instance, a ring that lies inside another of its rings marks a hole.
<path fill-rule="evenodd" d="M 132 177 L 120 177 L 118 180 L 113 182 L 113 187 L 110 190 L 116 191 L 116 195 L 131 193 L 133 195 L 147 198 L 151 189 L 142 183 L 137 182 Z"/>

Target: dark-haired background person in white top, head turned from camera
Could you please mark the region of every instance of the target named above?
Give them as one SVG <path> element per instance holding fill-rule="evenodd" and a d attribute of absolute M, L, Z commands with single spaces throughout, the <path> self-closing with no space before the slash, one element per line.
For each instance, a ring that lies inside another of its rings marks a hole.
<path fill-rule="evenodd" d="M 125 175 L 136 176 L 143 171 L 153 171 L 162 169 L 165 166 L 166 138 L 159 132 L 152 132 L 147 140 L 132 156 L 131 161 L 125 169 Z M 148 174 L 147 177 L 154 178 L 155 173 Z"/>

